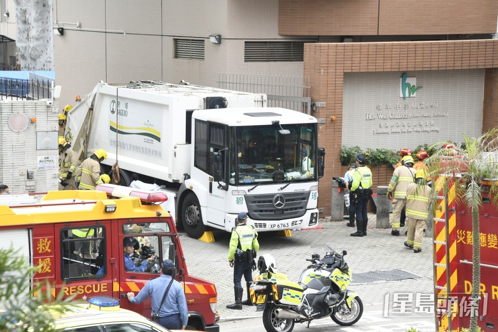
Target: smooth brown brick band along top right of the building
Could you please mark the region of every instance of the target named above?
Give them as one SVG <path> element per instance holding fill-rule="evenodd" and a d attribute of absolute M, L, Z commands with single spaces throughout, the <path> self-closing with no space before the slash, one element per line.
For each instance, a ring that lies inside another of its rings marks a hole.
<path fill-rule="evenodd" d="M 437 35 L 497 31 L 496 0 L 279 0 L 281 35 Z"/>

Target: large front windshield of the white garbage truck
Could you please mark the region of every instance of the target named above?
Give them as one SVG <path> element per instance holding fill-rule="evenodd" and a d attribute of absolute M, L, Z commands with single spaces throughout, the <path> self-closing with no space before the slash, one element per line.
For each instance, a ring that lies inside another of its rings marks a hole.
<path fill-rule="evenodd" d="M 316 181 L 316 124 L 241 126 L 235 128 L 230 184 Z"/>

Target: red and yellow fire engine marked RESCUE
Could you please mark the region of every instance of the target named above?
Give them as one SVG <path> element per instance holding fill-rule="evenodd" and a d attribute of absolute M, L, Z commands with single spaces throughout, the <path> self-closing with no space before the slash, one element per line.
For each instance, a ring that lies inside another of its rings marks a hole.
<path fill-rule="evenodd" d="M 188 274 L 175 222 L 156 204 L 162 192 L 100 185 L 95 191 L 54 191 L 47 194 L 2 195 L 1 247 L 39 266 L 33 282 L 48 279 L 52 296 L 63 292 L 75 299 L 107 295 L 121 299 L 121 307 L 150 317 L 150 299 L 140 305 L 126 299 L 158 276 L 160 262 L 171 259 L 175 279 L 185 291 L 188 326 L 219 331 L 216 287 Z M 143 272 L 126 271 L 124 238 L 135 237 L 141 247 L 133 254 Z M 155 252 L 156 259 L 146 263 Z"/>

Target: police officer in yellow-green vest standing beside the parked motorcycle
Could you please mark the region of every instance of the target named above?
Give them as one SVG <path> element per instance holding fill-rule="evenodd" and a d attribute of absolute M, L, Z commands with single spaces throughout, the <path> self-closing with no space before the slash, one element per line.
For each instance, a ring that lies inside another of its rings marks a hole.
<path fill-rule="evenodd" d="M 228 309 L 242 309 L 242 305 L 252 305 L 249 294 L 249 286 L 252 281 L 252 264 L 256 258 L 256 253 L 259 250 L 257 242 L 257 232 L 252 225 L 248 225 L 248 215 L 241 212 L 237 216 L 237 227 L 232 229 L 232 237 L 230 238 L 230 250 L 228 251 L 228 260 L 230 267 L 234 268 L 234 292 L 235 303 L 229 304 Z M 247 300 L 242 301 L 244 290 L 242 288 L 241 279 L 244 275 L 248 292 Z"/>

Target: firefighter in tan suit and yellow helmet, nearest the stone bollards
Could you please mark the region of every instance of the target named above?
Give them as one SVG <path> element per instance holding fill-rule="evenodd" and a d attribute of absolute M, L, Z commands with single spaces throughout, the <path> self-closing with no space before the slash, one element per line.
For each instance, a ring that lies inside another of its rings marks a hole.
<path fill-rule="evenodd" d="M 392 196 L 391 235 L 399 235 L 401 210 L 406 204 L 406 190 L 408 185 L 415 181 L 412 156 L 404 156 L 400 166 L 392 173 L 391 181 L 387 187 L 387 197 Z"/>

